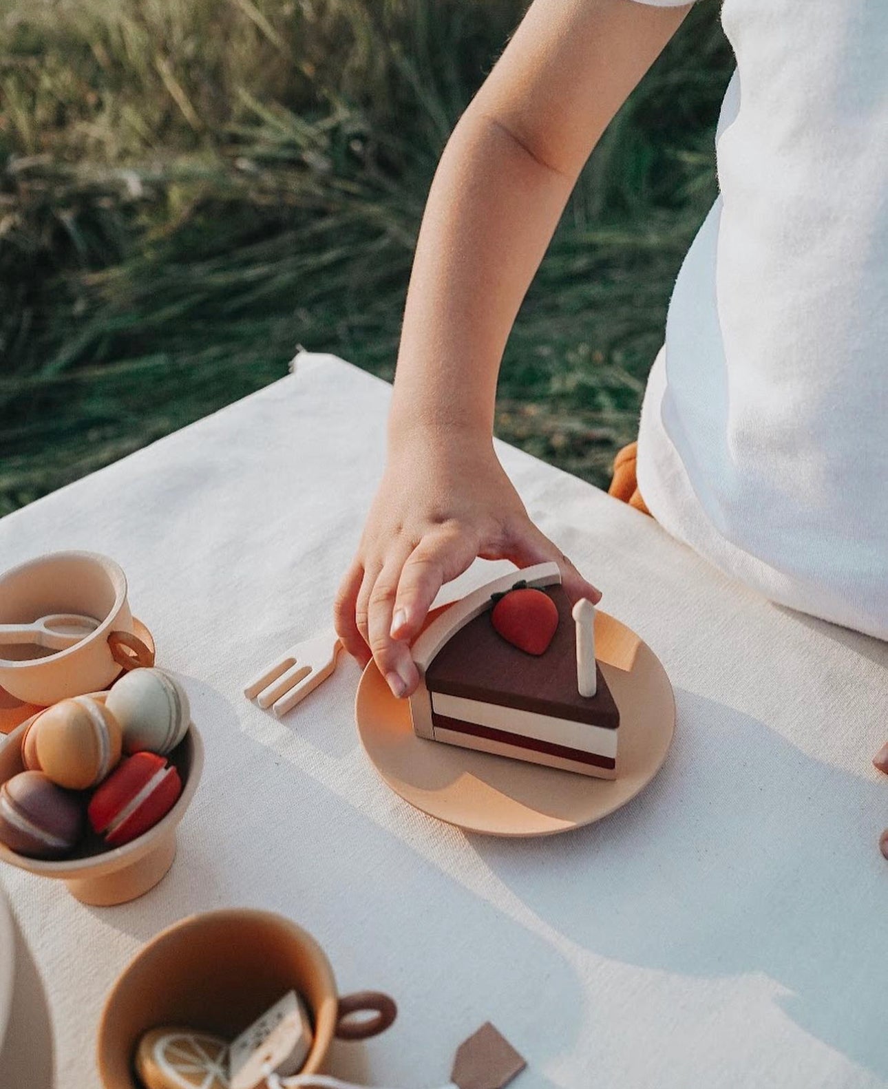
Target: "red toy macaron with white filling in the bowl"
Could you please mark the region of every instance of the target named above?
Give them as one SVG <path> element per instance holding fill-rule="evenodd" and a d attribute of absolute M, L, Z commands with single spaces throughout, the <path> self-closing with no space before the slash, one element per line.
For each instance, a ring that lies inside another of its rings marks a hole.
<path fill-rule="evenodd" d="M 135 840 L 172 809 L 182 780 L 162 756 L 135 752 L 125 757 L 96 790 L 86 813 L 112 847 Z"/>

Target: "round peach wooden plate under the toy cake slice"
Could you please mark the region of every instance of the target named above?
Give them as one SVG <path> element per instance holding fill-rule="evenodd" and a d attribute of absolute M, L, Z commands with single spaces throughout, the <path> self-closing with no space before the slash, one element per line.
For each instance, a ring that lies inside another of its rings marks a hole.
<path fill-rule="evenodd" d="M 361 677 L 355 719 L 361 743 L 388 785 L 412 806 L 467 832 L 554 835 L 607 817 L 657 774 L 676 729 L 666 671 L 624 624 L 596 611 L 596 653 L 620 709 L 618 778 L 607 781 L 425 741 L 410 706 L 373 661 Z"/>

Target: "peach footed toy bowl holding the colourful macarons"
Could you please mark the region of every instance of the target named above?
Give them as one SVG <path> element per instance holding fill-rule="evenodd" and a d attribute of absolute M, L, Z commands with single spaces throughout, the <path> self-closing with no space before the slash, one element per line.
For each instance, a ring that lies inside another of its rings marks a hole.
<path fill-rule="evenodd" d="M 90 693 L 105 702 L 107 692 Z M 34 715 L 0 738 L 0 783 L 25 770 L 22 742 Z M 183 739 L 167 757 L 179 770 L 182 793 L 166 817 L 122 847 L 107 848 L 92 831 L 75 853 L 63 859 L 28 858 L 0 843 L 0 860 L 46 878 L 61 878 L 72 896 L 84 904 L 123 904 L 148 892 L 166 876 L 175 857 L 175 829 L 194 797 L 204 767 L 204 743 L 192 722 Z"/>

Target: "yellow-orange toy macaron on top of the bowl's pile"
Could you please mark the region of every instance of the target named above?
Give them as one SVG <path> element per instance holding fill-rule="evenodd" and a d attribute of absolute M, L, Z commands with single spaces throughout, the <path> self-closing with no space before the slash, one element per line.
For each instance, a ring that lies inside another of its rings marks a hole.
<path fill-rule="evenodd" d="M 25 742 L 27 767 L 36 764 L 59 786 L 85 791 L 120 760 L 122 734 L 107 707 L 90 696 L 75 696 L 47 708 Z"/>

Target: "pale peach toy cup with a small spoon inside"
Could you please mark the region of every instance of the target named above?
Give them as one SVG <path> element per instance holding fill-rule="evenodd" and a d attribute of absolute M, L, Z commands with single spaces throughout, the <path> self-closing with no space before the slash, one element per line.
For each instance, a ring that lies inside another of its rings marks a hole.
<path fill-rule="evenodd" d="M 34 657 L 35 648 L 0 648 L 0 685 L 27 703 L 47 707 L 104 688 L 134 665 L 151 665 L 133 635 L 126 576 L 96 552 L 52 552 L 0 575 L 0 624 L 32 622 L 51 612 L 95 616 L 98 627 L 66 650 Z"/>

